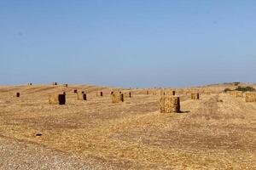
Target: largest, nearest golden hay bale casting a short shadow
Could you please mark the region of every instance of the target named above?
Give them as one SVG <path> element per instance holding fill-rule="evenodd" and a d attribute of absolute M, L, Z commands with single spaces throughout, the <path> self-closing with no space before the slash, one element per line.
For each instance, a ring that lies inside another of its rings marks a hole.
<path fill-rule="evenodd" d="M 160 98 L 160 113 L 179 113 L 180 100 L 177 96 L 162 96 Z"/>

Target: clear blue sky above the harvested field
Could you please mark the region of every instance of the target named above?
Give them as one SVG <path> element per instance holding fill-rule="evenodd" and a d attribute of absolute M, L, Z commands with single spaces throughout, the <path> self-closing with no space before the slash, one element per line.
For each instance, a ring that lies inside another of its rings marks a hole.
<path fill-rule="evenodd" d="M 0 84 L 256 82 L 253 0 L 0 0 Z"/>

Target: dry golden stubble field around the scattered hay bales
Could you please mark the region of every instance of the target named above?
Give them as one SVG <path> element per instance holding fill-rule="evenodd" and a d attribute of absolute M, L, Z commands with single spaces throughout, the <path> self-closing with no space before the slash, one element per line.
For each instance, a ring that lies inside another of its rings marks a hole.
<path fill-rule="evenodd" d="M 212 94 L 200 100 L 177 93 L 182 113 L 166 114 L 160 95 L 145 89 L 2 86 L 0 168 L 256 169 L 256 103 L 224 88 L 234 87 L 201 88 Z M 88 100 L 77 100 L 73 89 Z M 132 97 L 112 104 L 112 90 Z M 49 105 L 49 94 L 63 91 L 67 105 Z"/>

